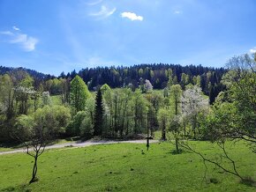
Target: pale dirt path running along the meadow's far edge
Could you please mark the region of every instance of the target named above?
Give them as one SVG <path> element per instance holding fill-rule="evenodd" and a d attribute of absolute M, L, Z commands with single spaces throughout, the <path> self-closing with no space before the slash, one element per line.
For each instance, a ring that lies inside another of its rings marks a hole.
<path fill-rule="evenodd" d="M 149 140 L 149 143 L 157 143 L 158 140 Z M 129 141 L 104 141 L 104 140 L 100 140 L 100 141 L 86 141 L 86 142 L 82 142 L 82 143 L 75 143 L 72 142 L 72 148 L 78 148 L 78 147 L 86 147 L 86 146 L 91 146 L 91 145 L 95 145 L 95 144 L 146 144 L 147 140 L 129 140 Z M 49 150 L 49 149 L 58 149 L 58 148 L 64 148 L 64 147 L 68 147 L 71 146 L 71 143 L 65 143 L 65 144 L 53 144 L 50 146 L 46 146 L 45 149 Z M 29 151 L 32 151 L 33 149 L 29 149 Z M 19 149 L 19 150 L 13 150 L 13 151 L 2 151 L 0 152 L 0 155 L 4 155 L 4 154 L 11 154 L 11 153 L 16 153 L 16 152 L 25 152 L 26 149 Z"/>

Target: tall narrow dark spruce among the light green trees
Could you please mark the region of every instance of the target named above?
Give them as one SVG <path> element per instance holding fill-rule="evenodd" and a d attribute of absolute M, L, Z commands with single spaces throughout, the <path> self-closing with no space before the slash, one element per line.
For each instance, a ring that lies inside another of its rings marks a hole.
<path fill-rule="evenodd" d="M 102 91 L 98 90 L 95 100 L 94 114 L 94 136 L 102 136 L 103 127 L 103 106 L 102 106 Z"/>

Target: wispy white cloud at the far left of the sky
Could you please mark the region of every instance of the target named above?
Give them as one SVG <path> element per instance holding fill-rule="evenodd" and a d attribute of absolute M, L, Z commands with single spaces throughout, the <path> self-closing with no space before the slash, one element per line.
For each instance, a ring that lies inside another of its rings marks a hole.
<path fill-rule="evenodd" d="M 5 36 L 8 36 L 8 43 L 17 44 L 25 51 L 34 51 L 36 44 L 38 43 L 38 39 L 27 35 L 26 33 L 19 33 L 19 28 L 16 26 L 12 27 L 15 30 L 15 33 L 10 31 L 0 32 Z"/>

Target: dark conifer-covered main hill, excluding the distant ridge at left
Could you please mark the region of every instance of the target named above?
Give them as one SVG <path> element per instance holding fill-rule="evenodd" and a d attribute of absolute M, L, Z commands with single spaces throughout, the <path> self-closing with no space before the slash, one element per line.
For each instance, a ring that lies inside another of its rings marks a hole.
<path fill-rule="evenodd" d="M 110 87 L 132 85 L 138 87 L 146 79 L 151 82 L 154 89 L 163 89 L 168 81 L 185 85 L 200 85 L 203 92 L 209 94 L 210 89 L 222 89 L 220 81 L 227 70 L 223 68 L 209 68 L 201 65 L 181 66 L 175 64 L 139 64 L 131 67 L 97 67 L 79 70 L 78 74 L 93 90 L 97 85 L 108 84 Z M 74 78 L 77 72 L 64 75 L 62 78 Z M 171 79 L 170 79 L 171 78 Z M 144 83 L 144 82 L 143 82 Z"/>

